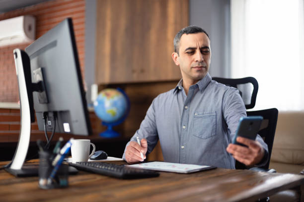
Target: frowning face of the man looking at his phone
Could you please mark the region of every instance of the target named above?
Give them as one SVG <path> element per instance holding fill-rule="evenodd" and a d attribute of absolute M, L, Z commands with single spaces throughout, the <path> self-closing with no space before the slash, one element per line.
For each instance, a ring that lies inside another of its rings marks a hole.
<path fill-rule="evenodd" d="M 179 65 L 183 80 L 192 84 L 206 76 L 211 58 L 210 40 L 203 32 L 183 34 L 179 42 L 179 55 L 172 53 Z"/>

